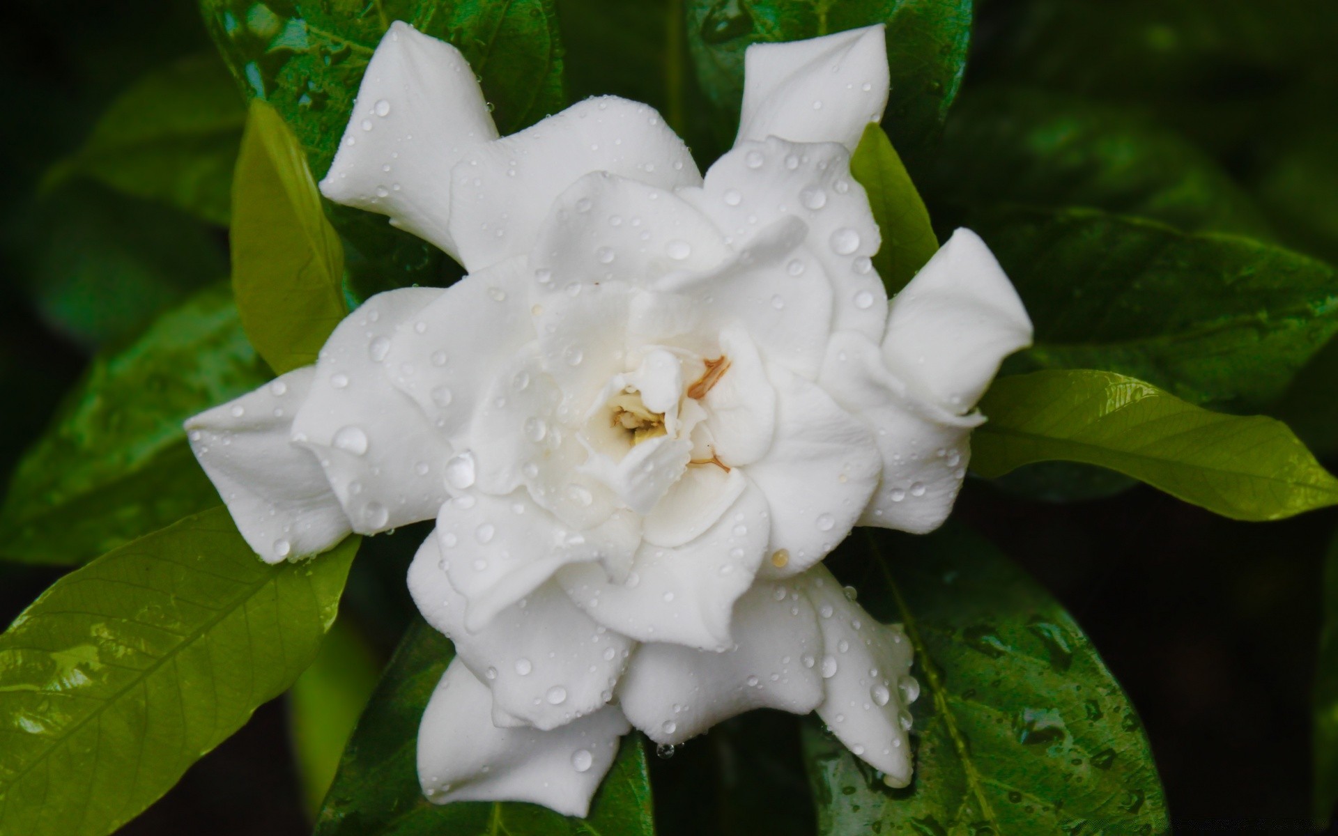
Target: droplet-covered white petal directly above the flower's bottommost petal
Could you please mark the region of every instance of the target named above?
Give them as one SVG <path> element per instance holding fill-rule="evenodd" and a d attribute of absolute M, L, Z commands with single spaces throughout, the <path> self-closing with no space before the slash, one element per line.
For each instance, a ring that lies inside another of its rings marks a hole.
<path fill-rule="evenodd" d="M 455 642 L 459 658 L 492 690 L 508 722 L 554 729 L 609 702 L 632 639 L 597 625 L 551 582 L 470 633 L 464 597 L 442 563 L 432 535 L 409 567 L 409 593 L 423 618 Z"/>

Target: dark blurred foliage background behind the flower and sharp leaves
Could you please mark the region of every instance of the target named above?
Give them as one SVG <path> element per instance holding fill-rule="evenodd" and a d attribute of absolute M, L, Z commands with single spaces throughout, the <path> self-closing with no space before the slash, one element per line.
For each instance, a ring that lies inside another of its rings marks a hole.
<path fill-rule="evenodd" d="M 650 102 L 685 126 L 705 167 L 721 138 L 693 86 L 666 96 L 653 75 L 610 74 L 601 63 L 634 68 L 646 43 L 665 51 L 652 56 L 657 66 L 665 54 L 682 58 L 681 33 L 664 28 L 662 11 L 673 5 L 561 0 L 558 8 L 570 12 L 565 24 L 590 21 L 563 31 L 569 98 Z M 15 0 L 7 11 L 5 474 L 95 352 L 126 345 L 155 314 L 226 277 L 227 205 L 218 195 L 226 197 L 244 116 L 194 3 Z M 751 25 L 747 0 L 710 13 L 694 23 L 713 21 L 723 33 Z M 969 206 L 986 199 L 1089 205 L 1338 262 L 1335 35 L 1338 7 L 1321 0 L 981 0 L 943 136 L 903 155 L 945 227 L 974 223 Z M 628 44 L 629 55 L 595 55 L 610 43 Z M 693 72 L 689 60 L 668 64 Z M 219 104 L 195 112 L 175 100 L 181 78 Z M 135 134 L 142 112 L 165 110 L 195 143 L 182 159 Z M 127 162 L 127 147 L 139 156 Z M 118 165 L 102 165 L 112 151 Z M 1330 341 L 1266 401 L 1330 469 L 1335 383 Z M 1085 499 L 1034 502 L 1058 495 Z M 1309 824 L 1319 579 L 1338 512 L 1236 523 L 1103 474 L 1036 468 L 970 482 L 958 512 L 1033 572 L 1100 649 L 1141 713 L 1176 831 L 1227 820 L 1235 829 Z M 329 653 L 344 654 L 336 669 L 372 675 L 395 646 L 412 614 L 403 571 L 419 528 L 364 547 L 376 559 L 355 567 L 345 601 L 353 638 L 330 643 Z M 8 623 L 58 574 L 0 564 L 0 618 Z M 312 800 L 290 744 L 302 728 L 289 722 L 290 702 L 265 706 L 123 832 L 308 832 Z M 747 832 L 757 821 L 809 831 L 792 730 L 788 718 L 748 716 L 656 761 L 657 815 L 700 832 Z"/>

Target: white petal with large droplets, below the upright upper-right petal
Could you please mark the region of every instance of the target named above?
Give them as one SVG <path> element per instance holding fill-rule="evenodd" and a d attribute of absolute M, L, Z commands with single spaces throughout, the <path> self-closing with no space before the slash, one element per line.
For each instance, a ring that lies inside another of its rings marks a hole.
<path fill-rule="evenodd" d="M 777 265 L 785 273 L 776 274 L 773 293 L 787 306 L 807 305 L 807 296 L 788 297 L 797 293 L 796 285 L 826 276 L 832 293 L 830 328 L 882 338 L 887 292 L 871 261 L 880 242 L 878 223 L 864 189 L 850 175 L 850 151 L 843 146 L 775 136 L 739 143 L 706 171 L 697 199 L 735 249 L 749 246 L 781 218 L 803 221 L 808 231 L 791 241 L 795 251 Z"/>

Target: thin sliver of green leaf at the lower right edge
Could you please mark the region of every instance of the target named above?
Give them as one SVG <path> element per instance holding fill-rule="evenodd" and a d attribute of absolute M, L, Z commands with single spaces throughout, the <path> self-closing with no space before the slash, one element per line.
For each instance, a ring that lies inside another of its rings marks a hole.
<path fill-rule="evenodd" d="M 1315 663 L 1314 769 L 1315 829 L 1323 831 L 1338 804 L 1338 538 L 1329 546 L 1323 575 L 1323 625 Z"/>

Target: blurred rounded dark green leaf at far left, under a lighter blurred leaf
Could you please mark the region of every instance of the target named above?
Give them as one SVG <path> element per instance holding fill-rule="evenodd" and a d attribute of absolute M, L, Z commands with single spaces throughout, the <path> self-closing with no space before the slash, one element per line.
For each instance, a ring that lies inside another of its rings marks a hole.
<path fill-rule="evenodd" d="M 17 284 L 41 318 L 86 346 L 128 340 L 227 276 L 205 223 L 87 181 L 43 195 L 5 234 Z"/>

